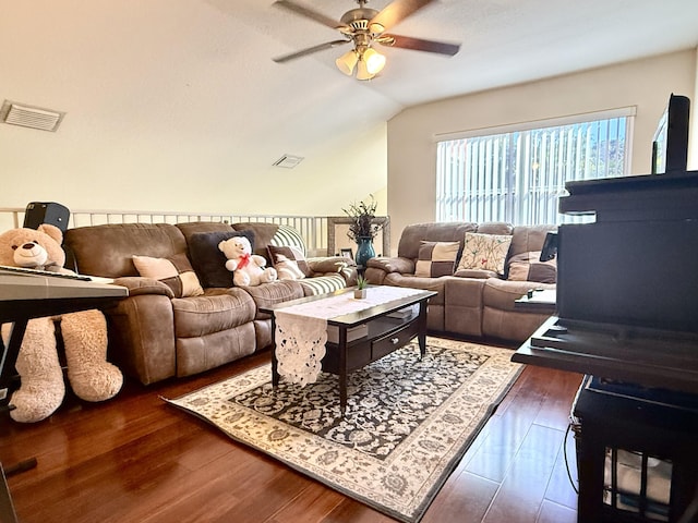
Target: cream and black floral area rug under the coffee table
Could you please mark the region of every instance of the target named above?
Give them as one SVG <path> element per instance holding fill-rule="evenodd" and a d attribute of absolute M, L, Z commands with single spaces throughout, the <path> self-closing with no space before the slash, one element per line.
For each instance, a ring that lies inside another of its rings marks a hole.
<path fill-rule="evenodd" d="M 272 387 L 264 365 L 169 403 L 323 484 L 419 521 L 521 370 L 512 351 L 428 338 L 349 376 Z"/>

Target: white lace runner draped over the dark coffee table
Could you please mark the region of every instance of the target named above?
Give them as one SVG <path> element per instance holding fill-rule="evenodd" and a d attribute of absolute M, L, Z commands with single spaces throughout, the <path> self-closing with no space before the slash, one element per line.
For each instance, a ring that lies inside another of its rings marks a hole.
<path fill-rule="evenodd" d="M 401 287 L 374 287 L 361 300 L 348 292 L 276 311 L 275 341 L 279 376 L 301 387 L 315 382 L 325 356 L 327 319 L 358 313 L 419 292 L 419 289 Z"/>

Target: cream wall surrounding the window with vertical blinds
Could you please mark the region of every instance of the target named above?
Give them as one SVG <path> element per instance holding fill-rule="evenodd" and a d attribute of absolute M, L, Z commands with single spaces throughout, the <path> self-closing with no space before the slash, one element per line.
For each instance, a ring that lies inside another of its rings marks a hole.
<path fill-rule="evenodd" d="M 696 70 L 696 50 L 686 50 L 406 109 L 388 121 L 393 251 L 405 226 L 434 220 L 437 134 L 636 106 L 631 172 L 645 174 L 670 94 L 693 97 L 698 107 Z M 689 166 L 696 165 L 696 148 Z"/>

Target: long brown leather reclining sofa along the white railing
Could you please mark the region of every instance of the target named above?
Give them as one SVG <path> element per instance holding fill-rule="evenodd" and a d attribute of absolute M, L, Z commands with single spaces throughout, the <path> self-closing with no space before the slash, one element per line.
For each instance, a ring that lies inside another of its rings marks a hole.
<path fill-rule="evenodd" d="M 282 231 L 273 223 L 119 223 L 69 229 L 63 244 L 74 258 L 74 268 L 84 275 L 113 278 L 129 289 L 128 299 L 105 311 L 109 358 L 144 385 L 197 374 L 270 345 L 270 317 L 258 312 L 261 305 L 356 280 L 356 268 L 337 272 L 336 259 L 309 259 L 312 273 L 308 281 L 236 288 L 217 244 L 250 231 L 255 253 L 264 255 L 269 242 L 292 241 L 279 236 Z M 180 260 L 185 256 L 202 293 L 178 297 L 165 280 L 140 276 L 134 255 Z M 320 283 L 312 283 L 313 277 Z"/>

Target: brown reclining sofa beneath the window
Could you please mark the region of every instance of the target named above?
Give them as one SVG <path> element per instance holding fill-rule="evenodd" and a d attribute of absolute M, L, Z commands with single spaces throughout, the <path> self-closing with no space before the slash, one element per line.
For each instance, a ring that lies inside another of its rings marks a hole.
<path fill-rule="evenodd" d="M 438 294 L 430 300 L 428 312 L 428 329 L 432 333 L 521 342 L 547 315 L 515 309 L 515 301 L 531 289 L 554 289 L 555 284 L 507 279 L 510 262 L 516 255 L 540 252 L 547 232 L 555 229 L 555 226 L 513 227 L 503 222 L 408 226 L 400 236 L 397 257 L 370 259 L 365 277 L 374 284 L 436 291 Z M 459 242 L 462 252 L 466 232 L 512 235 L 503 275 L 481 269 L 461 269 L 436 278 L 414 275 L 422 242 Z"/>

